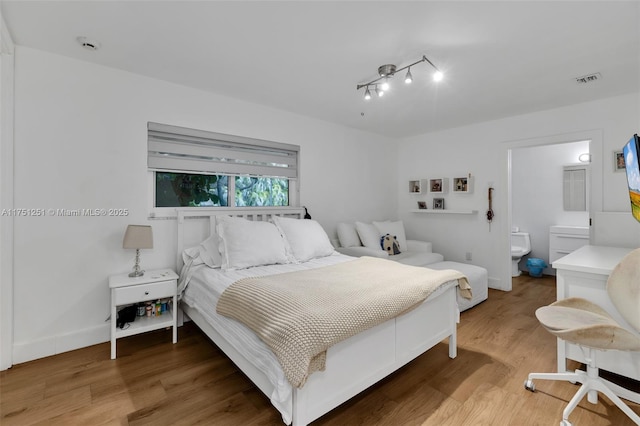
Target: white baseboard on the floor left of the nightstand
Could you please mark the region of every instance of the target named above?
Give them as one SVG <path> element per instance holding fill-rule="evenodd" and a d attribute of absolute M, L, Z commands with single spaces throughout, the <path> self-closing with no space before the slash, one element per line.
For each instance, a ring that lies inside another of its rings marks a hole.
<path fill-rule="evenodd" d="M 111 340 L 110 324 L 85 328 L 72 333 L 59 334 L 28 342 L 14 342 L 13 363 L 20 364 L 35 359 L 97 345 Z"/>

